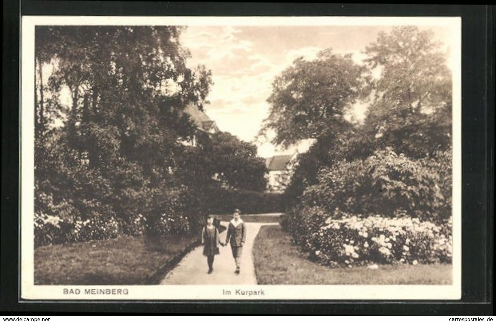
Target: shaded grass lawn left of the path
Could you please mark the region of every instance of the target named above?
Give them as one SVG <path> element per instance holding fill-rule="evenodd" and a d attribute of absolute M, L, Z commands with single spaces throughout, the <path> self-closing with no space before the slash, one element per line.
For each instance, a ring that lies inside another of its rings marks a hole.
<path fill-rule="evenodd" d="M 196 236 L 120 236 L 106 241 L 42 246 L 34 252 L 37 285 L 141 284 Z"/>

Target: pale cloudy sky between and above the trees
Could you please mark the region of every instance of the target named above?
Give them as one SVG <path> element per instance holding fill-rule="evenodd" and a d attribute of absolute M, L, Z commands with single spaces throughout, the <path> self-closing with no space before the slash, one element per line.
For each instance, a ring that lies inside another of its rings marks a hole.
<path fill-rule="evenodd" d="M 431 27 L 438 40 L 446 40 L 449 29 Z M 352 54 L 362 63 L 363 51 L 379 31 L 387 26 L 188 26 L 181 44 L 188 48 L 190 67 L 203 64 L 212 71 L 214 82 L 207 97 L 206 114 L 222 131 L 231 132 L 258 147 L 258 154 L 269 157 L 294 152 L 268 142 L 254 141 L 262 121 L 268 116 L 266 102 L 272 81 L 292 62 L 303 56 L 315 58 L 326 48 L 337 54 Z M 355 108 L 360 119 L 365 107 Z M 298 147 L 305 152 L 308 144 Z"/>

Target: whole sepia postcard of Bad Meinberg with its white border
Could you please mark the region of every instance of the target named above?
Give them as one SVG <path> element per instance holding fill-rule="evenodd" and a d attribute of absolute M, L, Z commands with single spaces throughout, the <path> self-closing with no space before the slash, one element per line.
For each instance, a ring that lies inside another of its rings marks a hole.
<path fill-rule="evenodd" d="M 461 298 L 461 18 L 23 16 L 20 300 Z"/>

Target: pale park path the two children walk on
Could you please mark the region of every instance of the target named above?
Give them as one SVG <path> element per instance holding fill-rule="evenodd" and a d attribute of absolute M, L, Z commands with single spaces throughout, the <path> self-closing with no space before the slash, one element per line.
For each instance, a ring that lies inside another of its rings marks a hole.
<path fill-rule="evenodd" d="M 228 222 L 222 221 L 228 226 Z M 277 223 L 245 222 L 247 239 L 241 258 L 241 272 L 235 274 L 236 265 L 231 253 L 231 246 L 220 246 L 220 255 L 215 256 L 214 271 L 207 274 L 207 258 L 203 256 L 203 246 L 189 252 L 160 282 L 161 285 L 256 285 L 255 267 L 253 265 L 253 242 L 262 225 L 278 225 Z M 220 234 L 220 240 L 225 242 L 226 231 Z"/>

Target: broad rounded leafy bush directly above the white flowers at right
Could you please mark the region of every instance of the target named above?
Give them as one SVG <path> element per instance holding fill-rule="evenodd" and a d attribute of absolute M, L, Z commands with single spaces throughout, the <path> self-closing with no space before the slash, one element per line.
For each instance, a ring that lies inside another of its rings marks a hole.
<path fill-rule="evenodd" d="M 329 213 L 335 209 L 387 217 L 408 213 L 442 222 L 451 216 L 445 201 L 450 195 L 442 194 L 438 171 L 426 162 L 397 155 L 391 148 L 365 160 L 340 161 L 320 171 L 318 184 L 305 191 L 303 202 L 325 207 Z"/>

